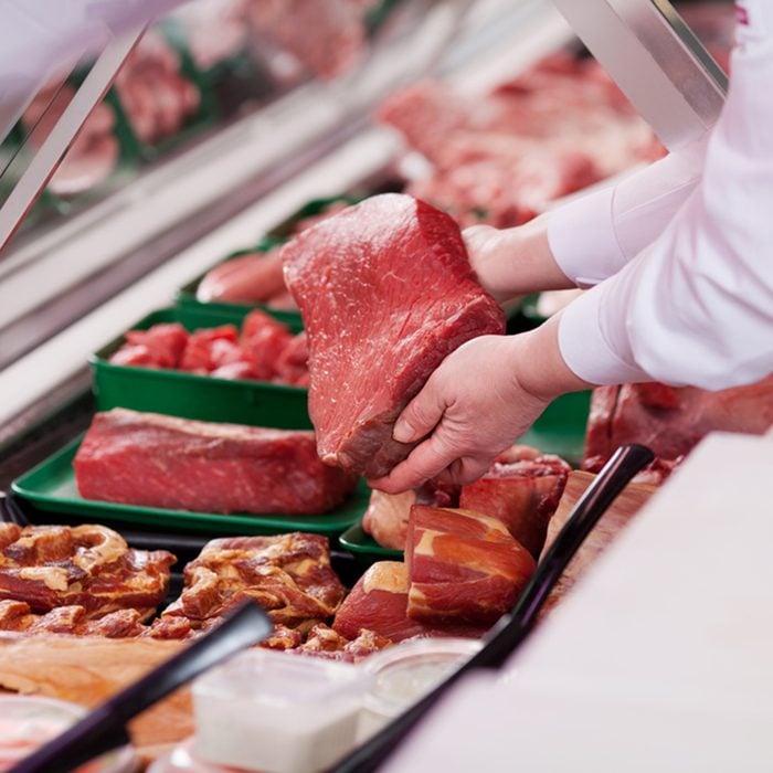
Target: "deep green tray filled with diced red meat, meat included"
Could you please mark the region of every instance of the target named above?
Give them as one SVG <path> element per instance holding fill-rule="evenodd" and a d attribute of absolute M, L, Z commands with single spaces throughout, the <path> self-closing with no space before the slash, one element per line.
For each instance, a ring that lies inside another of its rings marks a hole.
<path fill-rule="evenodd" d="M 261 309 L 155 311 L 89 358 L 97 410 L 311 427 L 306 336 Z"/>

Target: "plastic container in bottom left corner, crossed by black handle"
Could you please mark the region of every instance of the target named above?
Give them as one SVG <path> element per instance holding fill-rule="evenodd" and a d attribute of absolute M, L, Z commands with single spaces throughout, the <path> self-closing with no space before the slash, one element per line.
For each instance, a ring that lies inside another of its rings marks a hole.
<path fill-rule="evenodd" d="M 10 771 L 86 713 L 76 703 L 53 698 L 0 696 L 0 772 Z M 138 767 L 133 750 L 124 746 L 82 765 L 76 773 L 133 773 Z"/>

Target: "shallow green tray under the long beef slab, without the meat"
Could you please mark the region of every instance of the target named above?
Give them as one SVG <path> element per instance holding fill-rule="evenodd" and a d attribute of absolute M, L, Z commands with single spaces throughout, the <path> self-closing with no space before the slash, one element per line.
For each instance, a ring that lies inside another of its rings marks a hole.
<path fill-rule="evenodd" d="M 338 509 L 320 516 L 252 516 L 166 510 L 157 507 L 115 505 L 84 499 L 75 485 L 73 457 L 81 444 L 77 437 L 11 484 L 13 493 L 38 510 L 77 516 L 89 521 L 120 521 L 155 527 L 159 530 L 204 531 L 211 534 L 279 534 L 310 531 L 335 537 L 357 522 L 370 491 L 360 481 L 354 493 Z"/>

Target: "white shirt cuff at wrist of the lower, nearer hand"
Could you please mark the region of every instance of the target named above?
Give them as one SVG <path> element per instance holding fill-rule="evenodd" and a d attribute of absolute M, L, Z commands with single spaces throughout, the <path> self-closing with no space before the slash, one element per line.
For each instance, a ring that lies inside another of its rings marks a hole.
<path fill-rule="evenodd" d="M 569 369 L 592 384 L 626 384 L 652 379 L 635 364 L 622 360 L 606 340 L 601 315 L 610 283 L 583 293 L 562 313 L 559 349 Z M 625 325 L 625 319 L 621 319 Z"/>

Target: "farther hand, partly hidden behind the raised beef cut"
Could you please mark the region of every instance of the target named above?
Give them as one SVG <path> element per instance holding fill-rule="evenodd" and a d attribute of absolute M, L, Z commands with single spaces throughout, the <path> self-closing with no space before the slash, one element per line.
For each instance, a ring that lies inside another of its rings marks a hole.
<path fill-rule="evenodd" d="M 546 215 L 512 229 L 473 225 L 462 236 L 478 282 L 499 304 L 529 293 L 574 287 L 550 250 Z"/>

